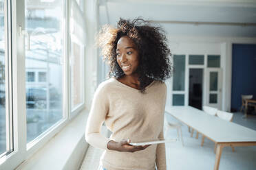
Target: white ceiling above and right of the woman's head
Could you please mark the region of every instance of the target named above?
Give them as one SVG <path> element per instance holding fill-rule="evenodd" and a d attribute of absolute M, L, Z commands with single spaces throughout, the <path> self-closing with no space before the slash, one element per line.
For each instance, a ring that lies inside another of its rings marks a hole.
<path fill-rule="evenodd" d="M 164 30 L 173 36 L 225 36 L 256 37 L 256 0 L 101 0 L 100 24 L 116 25 L 120 17 L 142 17 L 159 21 Z M 164 21 L 164 22 L 162 22 Z M 227 25 L 194 25 L 168 23 L 213 22 Z M 167 23 L 166 23 L 167 22 Z M 229 23 L 254 23 L 251 26 Z"/>

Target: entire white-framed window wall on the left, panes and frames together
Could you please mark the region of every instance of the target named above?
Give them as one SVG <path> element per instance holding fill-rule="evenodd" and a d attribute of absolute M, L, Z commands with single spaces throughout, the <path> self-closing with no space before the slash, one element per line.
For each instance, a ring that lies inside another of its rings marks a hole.
<path fill-rule="evenodd" d="M 67 9 L 76 0 L 12 2 L 0 0 L 0 169 L 15 169 L 38 151 L 71 120 L 71 111 L 83 109 L 85 99 L 84 90 L 75 91 L 83 89 L 85 77 L 85 17 L 78 5 L 74 43 L 67 43 Z M 12 20 L 12 12 L 19 19 Z"/>

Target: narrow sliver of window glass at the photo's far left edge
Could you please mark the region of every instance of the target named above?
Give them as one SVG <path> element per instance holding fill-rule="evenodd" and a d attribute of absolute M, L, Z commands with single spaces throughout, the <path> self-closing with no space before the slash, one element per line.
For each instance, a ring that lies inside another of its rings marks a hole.
<path fill-rule="evenodd" d="M 5 28 L 4 5 L 0 0 L 0 155 L 6 151 L 6 76 L 5 76 Z"/>

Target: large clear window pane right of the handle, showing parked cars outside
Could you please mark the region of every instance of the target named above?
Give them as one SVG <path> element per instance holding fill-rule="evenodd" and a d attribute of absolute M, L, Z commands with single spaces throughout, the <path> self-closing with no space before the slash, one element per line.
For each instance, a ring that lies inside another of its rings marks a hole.
<path fill-rule="evenodd" d="M 28 142 L 62 118 L 63 19 L 63 0 L 25 0 Z"/>

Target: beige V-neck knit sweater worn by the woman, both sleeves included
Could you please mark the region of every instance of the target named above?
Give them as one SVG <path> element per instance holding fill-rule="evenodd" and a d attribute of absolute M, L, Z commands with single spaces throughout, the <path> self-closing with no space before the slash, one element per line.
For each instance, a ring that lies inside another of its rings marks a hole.
<path fill-rule="evenodd" d="M 151 145 L 136 152 L 107 149 L 110 140 L 123 138 L 131 142 L 156 141 L 163 139 L 164 107 L 167 86 L 152 82 L 146 94 L 140 93 L 116 78 L 101 83 L 92 101 L 85 138 L 94 147 L 105 149 L 100 164 L 107 170 L 166 170 L 165 145 Z M 112 132 L 110 138 L 100 134 L 103 122 Z"/>

